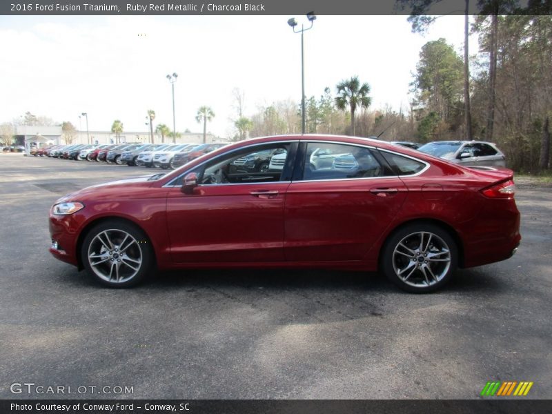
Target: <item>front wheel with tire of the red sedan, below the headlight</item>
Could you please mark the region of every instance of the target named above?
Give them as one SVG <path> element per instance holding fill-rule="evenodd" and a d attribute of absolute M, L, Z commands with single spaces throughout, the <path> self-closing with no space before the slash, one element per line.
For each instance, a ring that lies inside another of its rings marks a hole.
<path fill-rule="evenodd" d="M 153 248 L 146 234 L 117 219 L 92 228 L 83 240 L 80 254 L 88 275 L 111 288 L 139 284 L 154 264 Z"/>

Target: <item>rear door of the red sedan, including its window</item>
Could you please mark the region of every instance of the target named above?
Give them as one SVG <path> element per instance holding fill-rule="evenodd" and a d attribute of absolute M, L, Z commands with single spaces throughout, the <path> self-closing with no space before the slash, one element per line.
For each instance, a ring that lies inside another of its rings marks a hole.
<path fill-rule="evenodd" d="M 320 154 L 324 162 L 313 162 Z M 297 157 L 284 209 L 286 260 L 362 260 L 400 211 L 406 186 L 366 146 L 302 141 Z"/>

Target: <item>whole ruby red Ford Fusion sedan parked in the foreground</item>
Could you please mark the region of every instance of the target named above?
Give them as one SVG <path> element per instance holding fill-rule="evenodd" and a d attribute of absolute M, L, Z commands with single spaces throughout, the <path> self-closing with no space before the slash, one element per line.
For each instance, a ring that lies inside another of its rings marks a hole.
<path fill-rule="evenodd" d="M 286 152 L 282 170 L 236 159 Z M 241 141 L 167 174 L 84 188 L 50 210 L 50 252 L 126 287 L 152 268 L 381 270 L 400 288 L 441 288 L 455 268 L 520 244 L 511 170 L 466 168 L 355 137 Z"/>

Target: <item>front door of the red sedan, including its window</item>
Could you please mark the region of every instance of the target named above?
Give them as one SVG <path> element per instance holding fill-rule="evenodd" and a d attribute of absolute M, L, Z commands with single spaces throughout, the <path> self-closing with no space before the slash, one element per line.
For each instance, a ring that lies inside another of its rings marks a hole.
<path fill-rule="evenodd" d="M 289 143 L 250 146 L 196 168 L 199 186 L 193 194 L 183 194 L 179 187 L 170 190 L 167 224 L 173 261 L 284 260 L 289 181 L 281 179 L 286 171 L 261 171 L 256 162 L 259 152 L 275 149 L 290 154 Z"/>

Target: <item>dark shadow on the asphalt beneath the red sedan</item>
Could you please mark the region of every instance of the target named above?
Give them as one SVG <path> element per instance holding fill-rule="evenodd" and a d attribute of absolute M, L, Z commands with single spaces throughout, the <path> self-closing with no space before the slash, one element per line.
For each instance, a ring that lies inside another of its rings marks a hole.
<path fill-rule="evenodd" d="M 74 287 L 100 288 L 99 284 L 86 275 L 85 271 L 67 271 L 59 274 L 60 283 Z M 317 292 L 342 290 L 353 293 L 404 294 L 384 275 L 376 272 L 323 270 L 323 269 L 194 269 L 157 271 L 146 281 L 132 289 L 164 291 L 201 289 L 208 287 L 250 290 L 262 288 L 268 291 L 317 290 Z M 489 269 L 471 268 L 456 271 L 451 282 L 442 290 L 430 295 L 500 293 L 507 290 L 504 277 Z"/>

